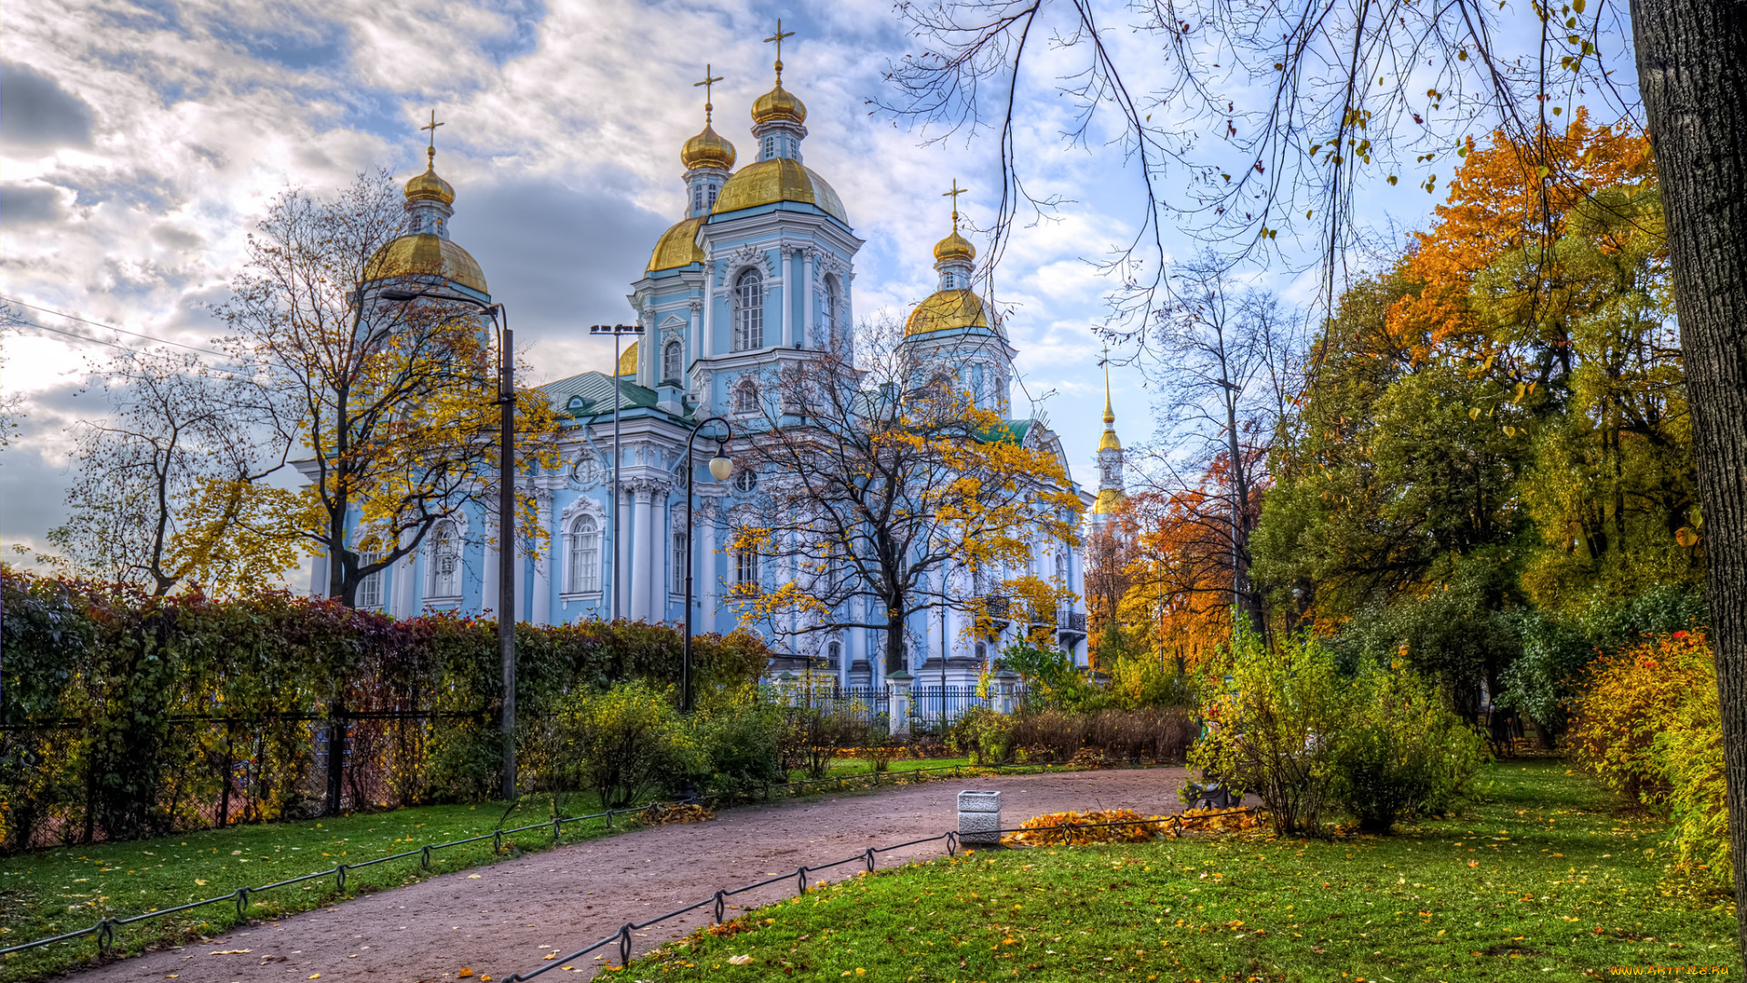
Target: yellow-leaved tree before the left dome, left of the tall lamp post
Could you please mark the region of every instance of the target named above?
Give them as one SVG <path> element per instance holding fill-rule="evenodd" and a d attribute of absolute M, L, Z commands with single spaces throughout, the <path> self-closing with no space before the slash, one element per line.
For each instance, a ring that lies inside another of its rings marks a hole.
<path fill-rule="evenodd" d="M 287 533 L 328 556 L 328 595 L 348 605 L 365 577 L 498 488 L 491 322 L 435 269 L 372 266 L 402 231 L 386 173 L 327 199 L 288 191 L 248 238 L 248 264 L 218 308 L 238 359 L 278 395 L 283 439 L 309 453 Z M 430 296 L 391 301 L 390 289 Z M 556 465 L 550 404 L 528 388 L 514 399 L 519 467 Z M 529 500 L 521 512 L 522 535 L 538 535 Z"/>

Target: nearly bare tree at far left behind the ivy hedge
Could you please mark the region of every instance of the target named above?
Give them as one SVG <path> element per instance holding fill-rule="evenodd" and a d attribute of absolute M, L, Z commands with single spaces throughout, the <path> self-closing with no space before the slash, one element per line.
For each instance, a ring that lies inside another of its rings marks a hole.
<path fill-rule="evenodd" d="M 297 567 L 269 394 L 194 353 L 124 352 L 101 369 L 112 415 L 82 420 L 68 518 L 49 533 L 73 572 L 162 596 L 239 593 Z"/>

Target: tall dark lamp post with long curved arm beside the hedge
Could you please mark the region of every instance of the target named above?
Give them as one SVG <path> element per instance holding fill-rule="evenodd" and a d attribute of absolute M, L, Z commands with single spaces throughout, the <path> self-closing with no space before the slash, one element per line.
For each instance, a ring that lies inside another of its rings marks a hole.
<path fill-rule="evenodd" d="M 433 294 L 383 290 L 386 301 L 433 297 L 477 308 L 498 327 L 498 654 L 503 658 L 503 798 L 515 798 L 515 334 L 501 303 Z"/>

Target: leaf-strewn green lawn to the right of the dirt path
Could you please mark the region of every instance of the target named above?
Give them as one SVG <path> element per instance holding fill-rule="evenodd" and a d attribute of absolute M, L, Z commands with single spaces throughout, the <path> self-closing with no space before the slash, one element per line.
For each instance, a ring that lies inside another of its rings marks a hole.
<path fill-rule="evenodd" d="M 1740 973 L 1733 910 L 1721 897 L 1710 908 L 1691 901 L 1670 880 L 1660 822 L 1623 812 L 1555 761 L 1494 764 L 1481 792 L 1462 817 L 1385 838 L 1184 838 L 931 861 L 749 913 L 732 934 L 692 936 L 624 978 L 1406 983 L 1588 980 L 1626 966 Z"/>

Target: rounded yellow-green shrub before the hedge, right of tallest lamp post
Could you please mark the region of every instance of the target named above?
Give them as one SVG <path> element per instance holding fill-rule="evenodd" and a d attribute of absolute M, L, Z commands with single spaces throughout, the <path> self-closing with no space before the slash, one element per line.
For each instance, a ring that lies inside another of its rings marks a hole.
<path fill-rule="evenodd" d="M 646 682 L 582 691 L 559 707 L 556 726 L 573 787 L 592 789 L 606 808 L 676 789 L 709 766 L 671 694 Z"/>

